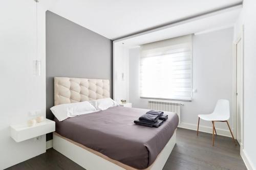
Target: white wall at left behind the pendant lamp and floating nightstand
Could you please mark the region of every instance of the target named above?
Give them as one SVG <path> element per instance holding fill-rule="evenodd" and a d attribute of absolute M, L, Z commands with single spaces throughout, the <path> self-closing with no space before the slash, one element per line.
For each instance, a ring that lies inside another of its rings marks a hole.
<path fill-rule="evenodd" d="M 35 2 L 3 1 L 0 5 L 0 169 L 46 152 L 45 135 L 15 142 L 10 124 L 26 122 L 30 110 L 45 115 L 45 10 L 38 5 L 38 46 L 41 76 L 33 76 L 35 57 Z"/>

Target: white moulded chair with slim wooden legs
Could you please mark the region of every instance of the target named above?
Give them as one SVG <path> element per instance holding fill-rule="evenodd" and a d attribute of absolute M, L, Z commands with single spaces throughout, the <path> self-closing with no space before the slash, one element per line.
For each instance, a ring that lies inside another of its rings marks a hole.
<path fill-rule="evenodd" d="M 236 144 L 236 140 L 234 140 L 233 133 L 232 133 L 232 131 L 229 127 L 229 124 L 227 122 L 229 117 L 230 117 L 229 101 L 224 100 L 224 99 L 218 100 L 216 107 L 214 109 L 214 112 L 212 112 L 211 114 L 199 114 L 198 115 L 197 135 L 198 135 L 200 118 L 203 120 L 211 121 L 212 122 L 212 146 L 214 146 L 214 132 L 216 133 L 214 123 L 215 122 L 226 122 L 228 129 L 232 135 L 233 141 Z M 216 133 L 216 135 L 217 135 L 217 133 Z"/>

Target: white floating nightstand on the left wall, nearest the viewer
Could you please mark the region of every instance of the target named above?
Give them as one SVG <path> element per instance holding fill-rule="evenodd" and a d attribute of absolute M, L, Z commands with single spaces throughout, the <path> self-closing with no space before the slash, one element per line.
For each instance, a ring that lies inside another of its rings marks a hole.
<path fill-rule="evenodd" d="M 44 122 L 36 123 L 34 126 L 28 126 L 26 123 L 11 125 L 11 137 L 16 141 L 24 141 L 37 136 L 55 131 L 55 122 L 45 119 Z"/>

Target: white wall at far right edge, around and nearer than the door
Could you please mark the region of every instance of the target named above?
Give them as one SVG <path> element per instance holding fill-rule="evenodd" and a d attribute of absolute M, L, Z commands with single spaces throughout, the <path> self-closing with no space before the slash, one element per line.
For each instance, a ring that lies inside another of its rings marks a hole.
<path fill-rule="evenodd" d="M 244 25 L 244 149 L 241 152 L 248 169 L 256 169 L 256 1 L 244 0 L 235 25 L 234 40 Z"/>

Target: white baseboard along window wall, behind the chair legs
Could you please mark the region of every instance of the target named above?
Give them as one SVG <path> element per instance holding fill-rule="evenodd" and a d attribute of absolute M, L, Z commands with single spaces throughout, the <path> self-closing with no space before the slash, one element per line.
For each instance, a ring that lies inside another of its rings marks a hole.
<path fill-rule="evenodd" d="M 179 128 L 184 128 L 184 129 L 190 129 L 190 130 L 197 131 L 197 125 L 195 125 L 195 124 L 180 123 L 178 127 Z M 212 134 L 212 127 L 207 127 L 207 126 L 201 126 L 200 125 L 199 126 L 199 131 Z M 231 134 L 230 134 L 230 132 L 228 130 L 216 128 L 216 131 L 217 131 L 218 135 L 231 137 Z"/>

